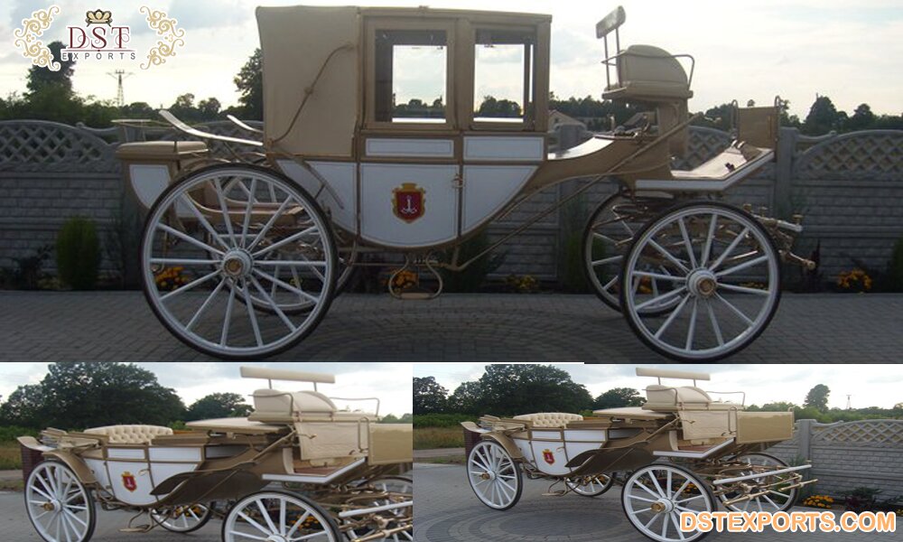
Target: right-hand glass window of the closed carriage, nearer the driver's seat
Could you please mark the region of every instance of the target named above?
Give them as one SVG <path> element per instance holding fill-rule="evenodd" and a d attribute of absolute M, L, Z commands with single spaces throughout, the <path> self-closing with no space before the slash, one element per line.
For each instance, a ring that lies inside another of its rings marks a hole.
<path fill-rule="evenodd" d="M 523 122 L 533 97 L 532 34 L 477 31 L 473 117 L 476 121 Z"/>

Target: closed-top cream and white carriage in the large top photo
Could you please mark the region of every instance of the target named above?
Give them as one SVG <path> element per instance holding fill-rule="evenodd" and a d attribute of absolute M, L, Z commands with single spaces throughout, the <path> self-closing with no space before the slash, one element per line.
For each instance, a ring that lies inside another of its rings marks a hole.
<path fill-rule="evenodd" d="M 619 190 L 587 224 L 586 272 L 642 341 L 675 359 L 748 345 L 777 309 L 780 262 L 809 264 L 790 251 L 798 220 L 719 201 L 774 160 L 778 107 L 739 108 L 730 148 L 672 170 L 693 120 L 693 70 L 688 77 L 681 63 L 693 59 L 649 45 L 621 51 L 621 8 L 596 26 L 603 97 L 648 113 L 552 154 L 548 15 L 307 6 L 256 15 L 263 130 L 233 119 L 247 138 L 212 135 L 163 111 L 203 141 L 135 142 L 117 153 L 148 210 L 147 301 L 198 350 L 241 359 L 292 347 L 354 268 L 386 266 L 387 253 L 404 258 L 396 275 L 434 276 L 418 291 L 390 279 L 392 294 L 434 297 L 437 269 L 464 269 L 603 181 Z M 501 77 L 514 88 L 496 100 L 507 107 L 479 103 L 486 81 Z M 412 89 L 432 94 L 402 103 Z M 228 147 L 229 159 L 211 157 L 209 145 Z M 489 221 L 569 179 L 584 182 L 463 261 L 461 244 Z"/>

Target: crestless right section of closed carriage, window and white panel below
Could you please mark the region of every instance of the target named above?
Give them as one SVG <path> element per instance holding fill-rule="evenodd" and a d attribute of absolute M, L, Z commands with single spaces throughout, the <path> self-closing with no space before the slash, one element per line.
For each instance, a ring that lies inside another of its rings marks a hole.
<path fill-rule="evenodd" d="M 537 58 L 546 52 L 536 45 L 537 29 L 477 25 L 473 35 L 472 115 L 463 138 L 464 234 L 511 201 L 543 162 L 547 116 L 547 90 L 539 89 L 547 89 L 547 68 L 545 57 Z M 537 79 L 540 65 L 543 77 Z"/>

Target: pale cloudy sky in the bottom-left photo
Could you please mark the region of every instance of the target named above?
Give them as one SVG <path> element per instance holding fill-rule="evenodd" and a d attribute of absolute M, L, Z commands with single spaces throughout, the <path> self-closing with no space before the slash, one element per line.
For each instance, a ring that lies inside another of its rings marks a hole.
<path fill-rule="evenodd" d="M 102 363 L 102 362 L 101 362 Z M 136 363 L 156 375 L 166 388 L 174 388 L 186 406 L 211 393 L 231 392 L 250 396 L 255 389 L 266 388 L 266 380 L 241 378 L 238 368 L 242 365 L 272 367 L 275 369 L 304 370 L 330 373 L 336 376 L 335 384 L 318 384 L 319 390 L 329 397 L 379 397 L 380 416 L 402 416 L 413 409 L 410 363 L 315 363 L 315 362 L 228 362 L 209 361 L 191 363 Z M 5 399 L 15 388 L 23 384 L 37 384 L 47 374 L 47 363 L 10 363 L 0 368 L 0 395 Z M 273 387 L 283 391 L 313 389 L 306 382 L 274 381 Z M 367 406 L 374 403 L 346 403 L 343 406 Z"/>

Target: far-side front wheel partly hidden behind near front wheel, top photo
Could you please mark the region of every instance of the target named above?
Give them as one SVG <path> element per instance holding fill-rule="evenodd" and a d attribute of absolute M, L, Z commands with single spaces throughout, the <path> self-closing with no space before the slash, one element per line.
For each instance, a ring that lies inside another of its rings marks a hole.
<path fill-rule="evenodd" d="M 650 206 L 660 206 L 663 202 L 670 201 L 662 198 L 631 198 L 619 192 L 602 201 L 587 220 L 583 229 L 583 271 L 595 294 L 612 309 L 619 312 L 621 310 L 620 270 L 624 253 L 642 226 L 639 220 L 650 211 Z M 656 267 L 656 270 L 667 273 L 666 269 Z M 631 287 L 652 293 L 665 293 L 672 289 L 669 282 L 656 277 L 638 277 Z M 661 306 L 645 307 L 642 312 L 662 313 L 676 303 L 675 299 L 666 299 Z"/>

